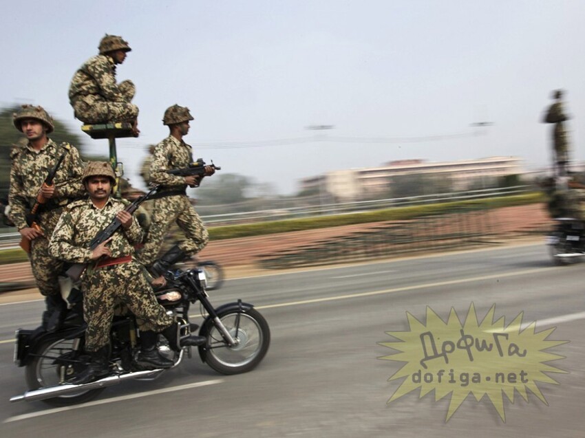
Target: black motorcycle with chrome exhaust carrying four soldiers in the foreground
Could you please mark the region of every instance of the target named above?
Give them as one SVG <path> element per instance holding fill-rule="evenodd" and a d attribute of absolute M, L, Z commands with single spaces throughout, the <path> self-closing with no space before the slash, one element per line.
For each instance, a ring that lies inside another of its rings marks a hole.
<path fill-rule="evenodd" d="M 206 293 L 205 272 L 200 268 L 170 270 L 164 276 L 167 285 L 155 294 L 158 302 L 178 320 L 182 337 L 198 328 L 190 322 L 189 309 L 194 303 L 200 303 L 204 320 L 198 334 L 206 338 L 198 347 L 202 362 L 218 373 L 231 375 L 251 371 L 262 361 L 270 344 L 270 329 L 253 305 L 237 300 L 213 307 Z M 83 349 L 86 327 L 81 301 L 79 298 L 74 303 L 62 328 L 54 333 L 45 331 L 42 326 L 17 330 L 14 362 L 25 367 L 29 391 L 12 397 L 11 402 L 42 400 L 53 406 L 78 404 L 94 399 L 107 386 L 125 380 L 153 380 L 167 371 L 142 369 L 136 362 L 140 331 L 136 318 L 129 314 L 115 316 L 112 323 L 110 374 L 87 384 L 67 383 L 89 364 L 89 355 Z M 162 336 L 157 346 L 164 357 L 173 360 L 171 369 L 178 366 L 185 355 L 191 358 L 191 347 L 183 347 L 175 353 Z"/>

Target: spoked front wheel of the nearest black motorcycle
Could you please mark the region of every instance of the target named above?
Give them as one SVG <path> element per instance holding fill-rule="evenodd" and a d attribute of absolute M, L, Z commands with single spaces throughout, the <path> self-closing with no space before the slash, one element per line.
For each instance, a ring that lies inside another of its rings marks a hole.
<path fill-rule="evenodd" d="M 268 351 L 268 322 L 255 309 L 245 312 L 226 310 L 217 316 L 237 344 L 230 347 L 213 321 L 208 320 L 200 333 L 207 338 L 206 344 L 199 347 L 202 360 L 218 373 L 226 375 L 251 371 Z"/>

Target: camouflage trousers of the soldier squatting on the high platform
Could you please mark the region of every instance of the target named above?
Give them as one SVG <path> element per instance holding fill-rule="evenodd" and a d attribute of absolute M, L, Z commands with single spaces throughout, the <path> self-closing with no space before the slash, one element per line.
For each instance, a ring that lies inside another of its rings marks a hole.
<path fill-rule="evenodd" d="M 110 102 L 98 95 L 79 96 L 72 102 L 75 117 L 90 124 L 136 120 L 138 107 L 130 103 L 136 92 L 134 84 L 124 80 L 118 87 L 123 93 L 123 102 Z"/>

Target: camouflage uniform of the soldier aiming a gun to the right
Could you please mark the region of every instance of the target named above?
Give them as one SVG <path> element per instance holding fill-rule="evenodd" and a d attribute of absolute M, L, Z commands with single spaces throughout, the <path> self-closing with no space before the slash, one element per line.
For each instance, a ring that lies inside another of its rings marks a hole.
<path fill-rule="evenodd" d="M 185 240 L 179 248 L 187 255 L 202 250 L 209 241 L 209 234 L 195 208 L 187 197 L 187 184 L 184 177 L 169 175 L 167 170 L 185 168 L 193 162 L 191 146 L 173 135 L 157 144 L 150 166 L 151 182 L 161 184 L 160 196 L 152 201 L 152 218 L 144 248 L 140 252 L 140 261 L 150 265 L 156 258 L 165 234 L 171 224 L 176 222 L 185 234 Z"/>

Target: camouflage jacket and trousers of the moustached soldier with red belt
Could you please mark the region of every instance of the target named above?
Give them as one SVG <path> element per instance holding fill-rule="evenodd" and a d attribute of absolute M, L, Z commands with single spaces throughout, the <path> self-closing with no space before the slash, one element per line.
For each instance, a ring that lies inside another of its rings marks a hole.
<path fill-rule="evenodd" d="M 124 303 L 136 315 L 141 331 L 162 331 L 174 322 L 156 301 L 142 266 L 136 261 L 96 268 L 91 260 L 89 242 L 124 207 L 123 201 L 112 197 L 102 209 L 96 208 L 91 199 L 76 201 L 61 215 L 50 241 L 49 249 L 54 256 L 73 263 L 90 263 L 81 278 L 87 351 L 98 351 L 109 343 L 111 318 L 117 303 Z M 133 219 L 128 230 L 118 228 L 112 236 L 108 243 L 111 257 L 132 254 L 132 245 L 141 240 L 142 230 Z"/>

